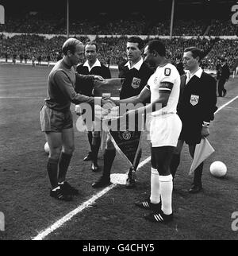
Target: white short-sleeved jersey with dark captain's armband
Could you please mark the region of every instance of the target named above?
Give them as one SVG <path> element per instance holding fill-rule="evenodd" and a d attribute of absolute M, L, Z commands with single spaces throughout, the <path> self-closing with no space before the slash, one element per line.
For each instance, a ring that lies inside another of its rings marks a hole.
<path fill-rule="evenodd" d="M 180 91 L 180 76 L 177 68 L 172 64 L 165 64 L 163 67 L 158 67 L 155 73 L 148 80 L 149 89 L 151 91 L 151 103 L 159 98 L 159 91 L 171 91 L 167 106 L 152 113 L 159 114 L 175 114 L 177 112 L 179 91 Z"/>

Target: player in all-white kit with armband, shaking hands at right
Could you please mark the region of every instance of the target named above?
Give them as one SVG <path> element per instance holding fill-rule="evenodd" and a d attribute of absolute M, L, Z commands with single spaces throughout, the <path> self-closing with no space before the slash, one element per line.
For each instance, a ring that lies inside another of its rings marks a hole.
<path fill-rule="evenodd" d="M 173 151 L 178 142 L 182 122 L 176 114 L 180 76 L 174 65 L 165 58 L 165 46 L 157 40 L 149 41 L 144 48 L 144 60 L 154 66 L 155 73 L 149 78 L 148 84 L 140 95 L 115 101 L 119 103 L 144 102 L 151 97 L 146 107 L 127 112 L 127 115 L 144 113 L 151 110 L 150 138 L 152 145 L 151 196 L 136 206 L 152 210 L 145 219 L 155 223 L 167 223 L 173 219 L 172 191 L 173 178 L 170 163 Z"/>

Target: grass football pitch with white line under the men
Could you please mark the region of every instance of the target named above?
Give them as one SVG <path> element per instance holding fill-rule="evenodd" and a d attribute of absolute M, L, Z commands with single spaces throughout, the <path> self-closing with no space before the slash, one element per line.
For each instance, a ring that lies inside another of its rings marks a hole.
<path fill-rule="evenodd" d="M 231 77 L 226 83 L 228 94 L 217 98 L 220 108 L 209 135 L 215 152 L 205 161 L 203 191 L 195 195 L 187 192 L 193 176 L 188 175 L 191 159 L 185 145 L 174 184 L 175 220 L 164 225 L 148 223 L 144 219 L 147 211 L 134 205 L 150 195 L 146 134 L 136 188 L 112 184 L 94 189 L 91 184 L 102 172 L 92 173 L 90 162 L 83 161 L 89 144 L 86 133 L 75 129 L 75 153 L 67 177 L 70 184 L 79 188 L 79 196 L 71 202 L 49 196 L 48 155 L 44 153 L 39 114 L 50 70 L 51 67 L 0 64 L 0 212 L 5 217 L 4 231 L 0 225 L 0 240 L 238 239 L 238 78 Z M 112 76 L 117 77 L 117 71 Z M 78 117 L 73 104 L 71 110 L 75 125 Z M 101 169 L 102 153 L 100 150 L 98 155 Z M 216 178 L 209 173 L 213 161 L 227 165 L 225 177 Z M 112 173 L 126 171 L 127 162 L 117 153 Z"/>

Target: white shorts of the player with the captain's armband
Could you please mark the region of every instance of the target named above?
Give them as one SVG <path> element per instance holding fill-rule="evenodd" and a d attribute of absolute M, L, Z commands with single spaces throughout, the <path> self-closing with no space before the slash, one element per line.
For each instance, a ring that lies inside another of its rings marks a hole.
<path fill-rule="evenodd" d="M 176 146 L 181 129 L 182 122 L 178 114 L 152 116 L 150 124 L 152 147 Z"/>

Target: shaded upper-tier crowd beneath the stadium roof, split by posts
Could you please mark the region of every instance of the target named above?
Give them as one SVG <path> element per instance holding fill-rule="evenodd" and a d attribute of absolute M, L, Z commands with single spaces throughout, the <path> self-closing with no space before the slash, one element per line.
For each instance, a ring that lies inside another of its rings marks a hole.
<path fill-rule="evenodd" d="M 128 15 L 123 18 L 100 16 L 94 19 L 72 18 L 70 20 L 71 34 L 96 35 L 170 35 L 170 19 L 145 17 L 143 14 Z M 236 25 L 227 20 L 191 20 L 176 19 L 173 26 L 175 36 L 202 36 L 206 29 L 207 35 L 233 36 L 237 35 Z M 66 34 L 66 18 L 64 14 L 46 14 L 30 12 L 10 16 L 6 24 L 0 24 L 0 32 L 8 33 L 47 33 Z"/>

